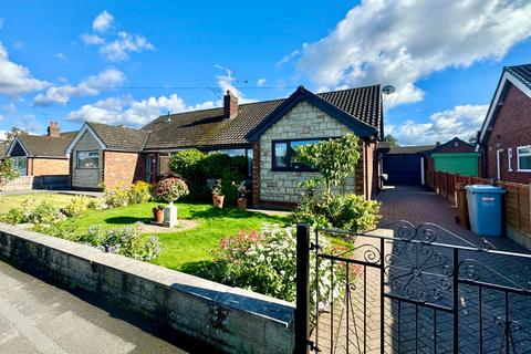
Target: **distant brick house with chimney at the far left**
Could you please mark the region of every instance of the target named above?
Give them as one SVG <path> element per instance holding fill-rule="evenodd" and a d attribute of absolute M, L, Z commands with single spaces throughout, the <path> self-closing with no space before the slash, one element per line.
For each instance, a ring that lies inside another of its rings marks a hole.
<path fill-rule="evenodd" d="M 7 147 L 6 158 L 21 176 L 69 175 L 65 150 L 71 140 L 72 133 L 61 134 L 58 123 L 51 122 L 48 135 L 15 136 Z"/>

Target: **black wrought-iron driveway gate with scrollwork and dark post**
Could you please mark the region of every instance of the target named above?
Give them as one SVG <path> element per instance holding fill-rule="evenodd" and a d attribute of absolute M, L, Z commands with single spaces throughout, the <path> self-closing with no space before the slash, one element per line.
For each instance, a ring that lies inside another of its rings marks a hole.
<path fill-rule="evenodd" d="M 531 353 L 530 254 L 384 229 L 298 227 L 296 353 Z"/>

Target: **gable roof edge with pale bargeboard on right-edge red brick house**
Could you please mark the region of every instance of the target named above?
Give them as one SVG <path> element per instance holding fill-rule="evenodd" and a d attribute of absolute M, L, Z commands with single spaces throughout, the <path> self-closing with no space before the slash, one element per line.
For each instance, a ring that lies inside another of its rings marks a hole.
<path fill-rule="evenodd" d="M 503 67 L 494 95 L 487 111 L 487 116 L 479 132 L 476 152 L 479 152 L 480 147 L 487 143 L 490 131 L 496 124 L 496 118 L 503 106 L 503 101 L 511 84 L 531 98 L 531 64 Z"/>

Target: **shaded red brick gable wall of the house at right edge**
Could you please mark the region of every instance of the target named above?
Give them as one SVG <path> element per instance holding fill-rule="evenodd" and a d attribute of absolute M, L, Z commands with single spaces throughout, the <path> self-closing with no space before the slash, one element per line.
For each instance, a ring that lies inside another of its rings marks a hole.
<path fill-rule="evenodd" d="M 497 149 L 501 154 L 501 179 L 514 183 L 531 183 L 531 173 L 517 171 L 517 147 L 531 144 L 531 98 L 514 87 L 509 87 L 503 106 L 490 132 L 486 149 L 487 178 L 497 178 Z M 512 148 L 512 171 L 508 170 L 508 148 Z"/>

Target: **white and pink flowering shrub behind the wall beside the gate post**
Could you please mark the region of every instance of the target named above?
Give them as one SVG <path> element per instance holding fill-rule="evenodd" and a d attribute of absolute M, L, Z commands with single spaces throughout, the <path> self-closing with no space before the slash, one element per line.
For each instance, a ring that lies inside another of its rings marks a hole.
<path fill-rule="evenodd" d="M 264 225 L 258 232 L 240 231 L 221 240 L 219 249 L 215 251 L 215 262 L 197 275 L 293 302 L 296 295 L 295 235 L 294 227 L 278 225 Z M 323 252 L 332 250 L 325 238 L 320 238 L 319 243 Z M 315 264 L 314 252 L 311 253 L 311 262 Z M 331 298 L 341 295 L 344 288 L 343 267 L 323 259 L 317 272 L 315 267 L 310 268 L 310 275 L 320 279 L 319 305 L 324 310 Z M 316 299 L 316 295 L 315 281 L 311 281 L 311 296 Z"/>

